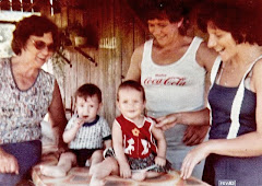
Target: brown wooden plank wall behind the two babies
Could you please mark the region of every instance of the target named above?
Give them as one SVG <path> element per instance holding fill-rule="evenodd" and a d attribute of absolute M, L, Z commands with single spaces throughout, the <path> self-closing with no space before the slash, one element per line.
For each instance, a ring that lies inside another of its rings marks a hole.
<path fill-rule="evenodd" d="M 91 56 L 91 62 L 74 47 L 66 47 L 66 57 L 71 61 L 63 66 L 64 81 L 60 83 L 66 108 L 72 108 L 73 93 L 83 83 L 94 83 L 103 92 L 100 115 L 111 125 L 117 113 L 116 91 L 124 78 L 131 55 L 147 37 L 147 27 L 135 16 L 126 0 L 85 0 L 81 5 L 67 5 L 61 13 L 51 16 L 60 27 L 71 22 L 90 26 L 97 38 L 98 47 L 81 48 Z M 88 38 L 87 38 L 88 39 Z"/>

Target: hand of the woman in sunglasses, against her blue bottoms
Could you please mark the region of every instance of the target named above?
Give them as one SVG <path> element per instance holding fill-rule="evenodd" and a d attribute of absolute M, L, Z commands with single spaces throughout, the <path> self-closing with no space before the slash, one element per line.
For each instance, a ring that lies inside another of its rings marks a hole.
<path fill-rule="evenodd" d="M 17 160 L 0 149 L 0 173 L 14 173 L 19 174 L 19 163 Z"/>

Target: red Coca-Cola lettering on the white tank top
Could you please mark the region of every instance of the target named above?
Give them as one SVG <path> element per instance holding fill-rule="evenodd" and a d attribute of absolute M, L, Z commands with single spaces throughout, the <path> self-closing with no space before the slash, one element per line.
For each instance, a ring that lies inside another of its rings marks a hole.
<path fill-rule="evenodd" d="M 169 77 L 169 78 L 146 78 L 144 80 L 145 85 L 186 85 L 186 78 Z"/>

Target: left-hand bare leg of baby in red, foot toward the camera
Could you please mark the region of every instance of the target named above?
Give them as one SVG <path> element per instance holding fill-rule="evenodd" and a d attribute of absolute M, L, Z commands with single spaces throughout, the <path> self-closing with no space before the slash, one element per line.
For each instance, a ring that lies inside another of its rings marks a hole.
<path fill-rule="evenodd" d="M 119 174 L 118 162 L 112 156 L 108 156 L 103 162 L 94 165 L 92 172 L 90 172 L 90 175 L 92 175 L 90 185 L 103 185 L 103 179 L 110 174 Z"/>

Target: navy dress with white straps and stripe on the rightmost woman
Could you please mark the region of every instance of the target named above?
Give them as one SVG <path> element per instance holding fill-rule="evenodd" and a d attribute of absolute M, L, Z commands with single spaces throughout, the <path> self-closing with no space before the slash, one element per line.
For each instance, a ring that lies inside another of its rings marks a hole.
<path fill-rule="evenodd" d="M 214 83 L 221 60 L 214 63 L 211 79 Z M 210 139 L 234 139 L 255 131 L 255 93 L 245 88 L 246 72 L 238 88 L 226 88 L 216 83 L 210 90 L 212 108 Z M 205 161 L 203 181 L 211 185 L 222 185 L 229 181 L 237 186 L 262 185 L 262 156 L 234 158 L 210 154 Z"/>

